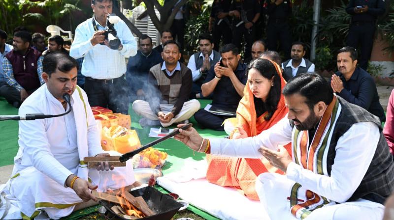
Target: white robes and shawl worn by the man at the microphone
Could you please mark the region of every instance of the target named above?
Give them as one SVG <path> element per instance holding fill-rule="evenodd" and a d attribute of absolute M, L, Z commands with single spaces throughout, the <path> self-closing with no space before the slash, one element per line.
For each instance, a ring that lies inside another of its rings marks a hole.
<path fill-rule="evenodd" d="M 84 179 L 89 177 L 99 186 L 99 191 L 134 182 L 131 163 L 103 172 L 88 170 L 86 165 L 80 164 L 83 157 L 93 157 L 104 151 L 88 98 L 82 89 L 80 92 L 75 90 L 71 105 L 72 111 L 62 117 L 19 122 L 19 150 L 14 158 L 13 178 L 1 193 L 20 209 L 20 213 L 8 213 L 5 219 L 21 219 L 21 215 L 25 218 L 40 215 L 42 218 L 45 217 L 42 210 L 51 219 L 69 215 L 74 206 L 82 202 L 72 189 L 65 187 L 70 174 Z M 48 91 L 46 84 L 29 96 L 19 109 L 19 115 L 64 112 L 62 104 Z M 112 178 L 113 175 L 121 178 Z M 112 179 L 124 181 L 117 183 Z"/>

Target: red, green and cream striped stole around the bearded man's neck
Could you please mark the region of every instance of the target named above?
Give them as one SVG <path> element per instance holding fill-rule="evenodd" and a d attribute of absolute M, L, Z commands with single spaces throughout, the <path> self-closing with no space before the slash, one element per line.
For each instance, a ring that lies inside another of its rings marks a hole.
<path fill-rule="evenodd" d="M 296 164 L 316 174 L 328 176 L 326 161 L 328 147 L 339 111 L 339 102 L 334 96 L 320 119 L 311 144 L 309 144 L 311 137 L 308 136 L 308 131 L 299 131 L 294 128 L 292 150 L 293 161 Z M 291 211 L 298 219 L 306 218 L 311 211 L 330 202 L 327 198 L 303 188 L 298 183 L 294 184 L 290 195 Z"/>

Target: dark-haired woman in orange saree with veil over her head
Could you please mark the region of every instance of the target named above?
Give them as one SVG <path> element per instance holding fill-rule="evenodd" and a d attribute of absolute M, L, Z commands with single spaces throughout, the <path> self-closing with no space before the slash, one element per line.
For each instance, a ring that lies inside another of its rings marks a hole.
<path fill-rule="evenodd" d="M 286 116 L 282 89 L 286 82 L 278 64 L 256 59 L 247 68 L 248 81 L 239 102 L 236 127 L 230 138 L 246 138 L 260 134 Z M 291 145 L 286 145 L 291 153 Z M 239 189 L 248 198 L 259 200 L 255 191 L 256 177 L 263 172 L 277 172 L 265 159 L 227 158 L 207 155 L 209 182 Z"/>

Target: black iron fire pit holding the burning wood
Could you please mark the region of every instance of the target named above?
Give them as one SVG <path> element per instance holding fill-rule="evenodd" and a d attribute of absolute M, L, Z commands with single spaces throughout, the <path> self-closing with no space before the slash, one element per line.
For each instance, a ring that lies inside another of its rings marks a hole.
<path fill-rule="evenodd" d="M 153 187 L 144 187 L 138 190 L 133 190 L 130 192 L 133 196 L 142 196 L 146 201 L 149 208 L 152 209 L 156 215 L 141 218 L 141 220 L 171 220 L 175 213 L 183 206 L 182 204 L 176 202 L 173 198 L 159 192 Z M 106 219 L 109 220 L 128 220 L 111 210 L 115 203 L 100 200 L 100 204 L 107 210 L 104 213 Z"/>

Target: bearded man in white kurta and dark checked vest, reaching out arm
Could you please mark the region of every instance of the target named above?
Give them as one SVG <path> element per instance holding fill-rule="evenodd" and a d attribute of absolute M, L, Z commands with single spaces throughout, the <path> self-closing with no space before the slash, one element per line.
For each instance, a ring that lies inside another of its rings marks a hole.
<path fill-rule="evenodd" d="M 271 220 L 381 220 L 394 165 L 379 118 L 335 96 L 318 74 L 293 78 L 283 95 L 288 118 L 256 137 L 203 139 L 190 128 L 175 138 L 199 152 L 264 156 L 286 172 L 256 181 Z M 281 146 L 290 142 L 292 156 Z"/>

